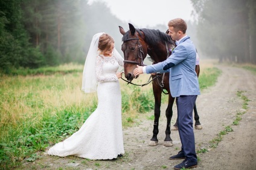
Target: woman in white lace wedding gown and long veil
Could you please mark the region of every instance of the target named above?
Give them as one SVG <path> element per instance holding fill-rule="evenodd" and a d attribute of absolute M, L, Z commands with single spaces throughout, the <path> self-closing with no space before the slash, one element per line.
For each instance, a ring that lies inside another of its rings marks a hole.
<path fill-rule="evenodd" d="M 82 90 L 97 91 L 97 109 L 77 132 L 51 147 L 48 154 L 91 160 L 115 159 L 124 154 L 119 65 L 123 66 L 123 58 L 113 38 L 104 32 L 95 34 L 86 57 Z"/>

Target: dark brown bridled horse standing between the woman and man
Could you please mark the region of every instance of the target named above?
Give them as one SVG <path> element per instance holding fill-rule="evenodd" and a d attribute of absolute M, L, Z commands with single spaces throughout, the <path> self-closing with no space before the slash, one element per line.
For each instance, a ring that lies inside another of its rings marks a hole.
<path fill-rule="evenodd" d="M 144 65 L 143 61 L 149 54 L 153 61 L 153 64 L 162 62 L 171 55 L 171 49 L 175 47 L 175 42 L 171 37 L 164 32 L 156 29 L 135 29 L 135 27 L 129 23 L 129 31 L 124 31 L 124 29 L 119 26 L 120 33 L 123 35 L 121 45 L 121 50 L 124 53 L 124 76 L 130 82 L 133 78 L 138 78 L 134 76 L 133 70 L 137 67 L 136 65 Z M 158 145 L 157 135 L 159 133 L 159 117 L 160 117 L 160 106 L 161 106 L 161 96 L 162 93 L 167 91 L 168 94 L 168 105 L 165 110 L 165 117 L 167 118 L 167 126 L 165 129 L 165 139 L 164 146 L 171 147 L 173 145 L 172 139 L 170 137 L 170 122 L 173 116 L 173 103 L 174 97 L 171 96 L 169 87 L 169 73 L 155 74 L 152 75 L 152 87 L 153 95 L 155 97 L 155 108 L 154 115 L 155 120 L 153 124 L 153 136 L 150 139 L 149 145 Z M 165 90 L 165 91 L 164 91 Z M 195 127 L 200 126 L 199 116 L 196 111 L 196 105 L 194 106 L 194 118 L 196 120 Z M 178 127 L 178 120 L 174 126 Z M 199 127 L 200 129 L 200 127 Z M 202 129 L 202 128 L 201 128 Z"/>

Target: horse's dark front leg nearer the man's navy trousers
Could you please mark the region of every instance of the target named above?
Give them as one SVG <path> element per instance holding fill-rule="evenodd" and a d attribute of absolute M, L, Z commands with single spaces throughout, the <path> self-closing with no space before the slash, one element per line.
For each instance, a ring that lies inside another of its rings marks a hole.
<path fill-rule="evenodd" d="M 171 139 L 171 136 L 170 136 L 171 135 L 170 126 L 171 126 L 171 117 L 173 117 L 173 103 L 175 98 L 171 97 L 170 91 L 168 91 L 168 93 L 169 93 L 168 106 L 165 111 L 165 116 L 167 118 L 167 126 L 165 130 L 165 139 L 164 139 L 165 147 L 171 147 L 173 145 L 173 140 Z"/>

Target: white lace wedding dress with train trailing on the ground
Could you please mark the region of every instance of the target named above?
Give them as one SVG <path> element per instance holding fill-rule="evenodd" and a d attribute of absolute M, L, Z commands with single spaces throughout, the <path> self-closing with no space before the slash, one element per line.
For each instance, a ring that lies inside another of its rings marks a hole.
<path fill-rule="evenodd" d="M 51 147 L 48 154 L 91 160 L 114 159 L 118 154 L 124 154 L 121 91 L 116 76 L 119 65 L 123 66 L 123 58 L 97 56 L 97 109 L 77 132 Z"/>

